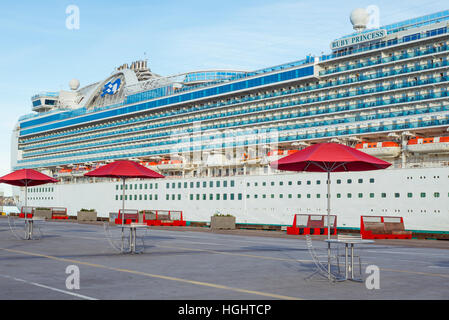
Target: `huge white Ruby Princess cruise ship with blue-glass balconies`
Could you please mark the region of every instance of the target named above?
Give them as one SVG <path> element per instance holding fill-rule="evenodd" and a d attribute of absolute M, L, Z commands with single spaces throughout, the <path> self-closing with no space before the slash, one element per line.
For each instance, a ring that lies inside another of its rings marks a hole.
<path fill-rule="evenodd" d="M 121 208 L 121 181 L 84 173 L 129 159 L 166 178 L 127 180 L 128 209 L 291 225 L 294 214 L 326 214 L 327 176 L 270 162 L 337 142 L 392 164 L 332 174 L 339 228 L 398 216 L 408 230 L 449 233 L 449 10 L 375 29 L 368 18 L 354 10 L 354 32 L 328 54 L 262 70 L 162 76 L 142 60 L 33 96 L 13 130 L 12 168 L 60 182 L 28 188 L 28 205 L 108 217 Z M 13 193 L 20 207 L 25 191 Z"/>

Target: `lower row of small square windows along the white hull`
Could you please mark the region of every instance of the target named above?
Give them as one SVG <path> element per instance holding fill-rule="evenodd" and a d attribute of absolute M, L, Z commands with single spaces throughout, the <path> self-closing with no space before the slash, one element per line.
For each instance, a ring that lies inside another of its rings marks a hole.
<path fill-rule="evenodd" d="M 302 198 L 302 195 L 300 193 L 298 193 L 296 195 L 293 195 L 293 194 L 290 193 L 290 194 L 286 194 L 285 196 L 288 199 L 293 199 L 293 197 L 296 197 L 297 199 L 301 199 Z M 321 198 L 321 194 L 320 193 L 317 193 L 317 194 L 307 193 L 304 196 L 307 199 L 312 199 L 312 198 L 320 199 Z M 342 195 L 341 193 L 337 193 L 336 194 L 337 199 L 341 199 L 343 196 L 345 196 L 347 199 L 353 198 L 353 194 L 352 193 L 347 193 L 345 195 Z M 407 196 L 407 198 L 413 198 L 413 193 L 412 192 L 408 192 L 406 194 L 406 196 Z M 364 194 L 361 193 L 361 192 L 357 193 L 357 194 L 354 194 L 354 198 L 356 198 L 356 197 L 357 198 L 363 198 Z M 369 198 L 375 198 L 376 196 L 375 196 L 375 194 L 373 192 L 371 192 L 371 193 L 369 193 L 368 197 Z M 387 198 L 387 194 L 385 192 L 382 192 L 382 193 L 380 193 L 380 197 L 381 198 Z M 400 198 L 401 194 L 399 192 L 395 192 L 395 193 L 393 193 L 392 197 L 393 198 Z M 420 198 L 426 198 L 427 197 L 427 193 L 426 192 L 421 192 L 421 193 L 419 193 L 419 197 Z M 440 193 L 439 192 L 434 192 L 433 193 L 433 197 L 434 198 L 439 198 L 440 197 Z M 448 193 L 448 197 L 449 197 L 449 193 Z M 269 198 L 269 199 L 276 199 L 276 198 L 283 199 L 284 198 L 284 194 L 282 194 L 282 193 L 280 193 L 278 195 L 276 195 L 274 193 L 272 193 L 272 194 L 260 194 L 260 195 L 259 194 L 253 194 L 253 195 L 247 194 L 246 198 L 247 199 L 251 199 L 251 198 L 253 198 L 253 199 L 260 199 L 260 198 L 261 199 L 267 199 L 267 198 Z M 327 198 L 327 194 L 323 195 L 323 198 Z M 115 196 L 115 200 L 119 200 L 119 199 L 122 200 L 123 196 L 122 195 L 120 195 L 120 196 L 116 195 Z M 135 194 L 135 195 L 129 195 L 129 196 L 125 195 L 125 200 L 153 200 L 153 199 L 157 200 L 158 199 L 158 195 L 157 194 L 155 194 L 155 195 L 152 195 L 152 194 L 150 194 L 150 195 L 146 195 L 146 194 L 137 195 L 137 194 Z M 243 194 L 242 193 L 238 193 L 237 196 L 236 196 L 234 193 L 229 193 L 229 194 L 227 194 L 227 193 L 223 193 L 223 194 L 221 194 L 221 193 L 215 193 L 215 194 L 214 193 L 209 193 L 209 194 L 207 194 L 207 193 L 203 193 L 203 194 L 197 193 L 197 194 L 190 194 L 189 195 L 189 199 L 190 200 L 235 200 L 235 199 L 242 200 L 243 199 Z M 166 194 L 165 195 L 165 200 L 182 200 L 182 195 L 180 193 L 178 193 L 178 194 Z"/>

